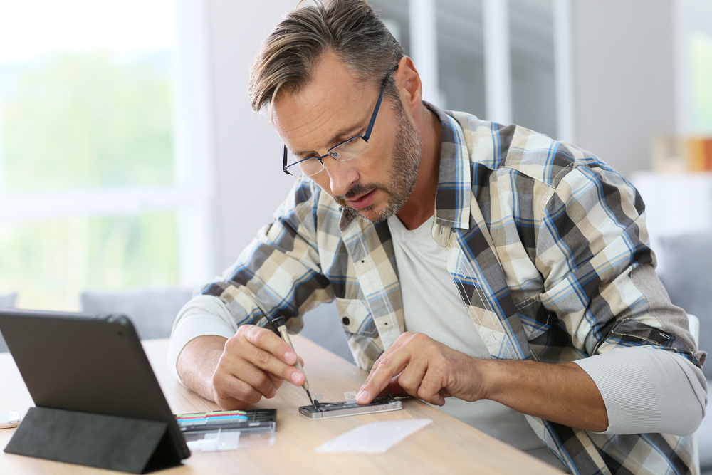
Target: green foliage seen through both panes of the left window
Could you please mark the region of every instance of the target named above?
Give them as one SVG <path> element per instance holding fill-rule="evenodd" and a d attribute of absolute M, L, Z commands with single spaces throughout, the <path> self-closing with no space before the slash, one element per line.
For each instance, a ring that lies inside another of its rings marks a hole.
<path fill-rule="evenodd" d="M 0 202 L 173 184 L 170 60 L 93 49 L 0 64 Z M 0 294 L 78 310 L 86 289 L 173 285 L 177 246 L 173 210 L 0 222 Z"/>

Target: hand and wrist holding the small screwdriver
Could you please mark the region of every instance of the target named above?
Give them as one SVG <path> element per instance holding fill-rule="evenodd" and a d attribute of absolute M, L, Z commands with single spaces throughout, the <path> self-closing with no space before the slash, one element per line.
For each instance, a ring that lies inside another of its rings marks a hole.
<path fill-rule="evenodd" d="M 178 357 L 184 385 L 223 409 L 244 409 L 274 397 L 283 380 L 304 384 L 294 364 L 297 356 L 275 333 L 241 326 L 229 340 L 204 336 L 191 340 Z"/>

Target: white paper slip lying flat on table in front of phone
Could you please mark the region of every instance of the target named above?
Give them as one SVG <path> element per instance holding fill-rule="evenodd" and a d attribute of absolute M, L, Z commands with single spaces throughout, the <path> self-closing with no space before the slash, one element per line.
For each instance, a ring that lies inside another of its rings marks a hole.
<path fill-rule="evenodd" d="M 382 454 L 432 419 L 381 421 L 364 424 L 315 449 L 320 454 Z"/>

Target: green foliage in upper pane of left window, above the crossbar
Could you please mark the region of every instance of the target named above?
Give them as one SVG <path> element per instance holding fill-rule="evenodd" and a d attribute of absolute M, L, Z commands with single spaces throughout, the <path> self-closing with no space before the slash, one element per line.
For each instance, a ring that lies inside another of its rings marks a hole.
<path fill-rule="evenodd" d="M 0 67 L 0 186 L 59 191 L 174 181 L 169 52 L 56 52 Z"/>

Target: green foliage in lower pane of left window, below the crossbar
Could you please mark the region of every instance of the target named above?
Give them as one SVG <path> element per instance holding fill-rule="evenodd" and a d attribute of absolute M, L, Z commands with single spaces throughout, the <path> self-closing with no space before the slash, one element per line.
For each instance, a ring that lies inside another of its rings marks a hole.
<path fill-rule="evenodd" d="M 25 221 L 0 226 L 0 293 L 25 308 L 79 310 L 88 289 L 178 281 L 174 212 Z"/>

